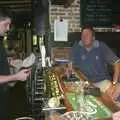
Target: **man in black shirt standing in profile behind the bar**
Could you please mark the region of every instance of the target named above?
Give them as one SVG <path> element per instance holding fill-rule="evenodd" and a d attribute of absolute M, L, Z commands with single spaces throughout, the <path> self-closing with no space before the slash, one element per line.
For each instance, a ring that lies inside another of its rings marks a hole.
<path fill-rule="evenodd" d="M 4 36 L 10 29 L 12 16 L 9 9 L 0 8 L 0 36 Z M 24 81 L 29 76 L 30 70 L 22 70 L 16 74 L 10 75 L 6 51 L 0 42 L 0 120 L 9 120 L 8 118 L 8 88 L 7 82 L 21 80 Z"/>

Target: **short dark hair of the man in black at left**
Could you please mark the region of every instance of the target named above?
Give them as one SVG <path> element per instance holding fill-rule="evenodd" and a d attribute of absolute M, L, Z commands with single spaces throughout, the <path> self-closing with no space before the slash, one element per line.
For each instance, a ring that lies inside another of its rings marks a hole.
<path fill-rule="evenodd" d="M 7 18 L 13 19 L 13 12 L 10 8 L 0 6 L 0 21 Z"/>

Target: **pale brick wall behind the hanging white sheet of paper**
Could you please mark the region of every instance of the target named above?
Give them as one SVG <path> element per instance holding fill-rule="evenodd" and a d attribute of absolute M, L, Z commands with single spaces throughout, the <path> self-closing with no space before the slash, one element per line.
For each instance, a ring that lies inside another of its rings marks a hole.
<path fill-rule="evenodd" d="M 69 32 L 80 32 L 80 0 L 74 2 L 68 7 L 64 8 L 62 5 L 50 6 L 50 24 L 51 31 L 54 30 L 55 19 L 67 19 L 69 23 Z M 95 28 L 98 32 L 108 32 L 111 28 Z"/>

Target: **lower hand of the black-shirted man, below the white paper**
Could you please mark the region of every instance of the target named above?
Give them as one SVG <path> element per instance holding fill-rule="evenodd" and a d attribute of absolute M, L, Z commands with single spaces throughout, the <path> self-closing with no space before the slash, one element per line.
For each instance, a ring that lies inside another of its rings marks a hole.
<path fill-rule="evenodd" d="M 15 74 L 14 80 L 25 81 L 27 77 L 30 75 L 30 73 L 31 73 L 31 69 L 23 69 Z"/>

